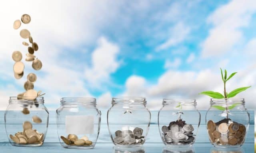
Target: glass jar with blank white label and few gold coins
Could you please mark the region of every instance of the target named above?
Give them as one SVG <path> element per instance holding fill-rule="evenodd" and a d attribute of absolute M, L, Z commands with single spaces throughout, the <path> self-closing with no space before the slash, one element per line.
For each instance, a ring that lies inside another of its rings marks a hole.
<path fill-rule="evenodd" d="M 56 110 L 57 131 L 64 148 L 94 148 L 99 133 L 101 112 L 95 98 L 61 98 Z"/>

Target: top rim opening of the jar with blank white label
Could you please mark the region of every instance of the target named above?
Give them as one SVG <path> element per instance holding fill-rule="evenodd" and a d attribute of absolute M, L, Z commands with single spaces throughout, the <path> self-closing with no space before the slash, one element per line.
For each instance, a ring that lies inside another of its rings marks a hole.
<path fill-rule="evenodd" d="M 61 104 L 96 104 L 96 98 L 91 97 L 63 97 Z"/>

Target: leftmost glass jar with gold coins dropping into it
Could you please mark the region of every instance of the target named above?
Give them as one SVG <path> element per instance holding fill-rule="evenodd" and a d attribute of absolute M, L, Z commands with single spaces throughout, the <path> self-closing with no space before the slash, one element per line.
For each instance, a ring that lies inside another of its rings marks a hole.
<path fill-rule="evenodd" d="M 6 134 L 14 146 L 38 147 L 44 143 L 49 113 L 43 97 L 25 99 L 10 97 L 4 114 Z"/>

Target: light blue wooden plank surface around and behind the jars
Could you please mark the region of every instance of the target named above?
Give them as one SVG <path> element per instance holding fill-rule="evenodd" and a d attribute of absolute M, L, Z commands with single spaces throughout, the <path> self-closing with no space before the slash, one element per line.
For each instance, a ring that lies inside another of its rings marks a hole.
<path fill-rule="evenodd" d="M 45 143 L 41 147 L 13 147 L 10 145 L 4 128 L 4 111 L 0 111 L 0 149 L 2 153 L 12 153 L 12 152 L 74 152 L 74 149 L 62 148 L 59 144 L 57 129 L 56 129 L 56 119 L 55 111 L 50 111 L 49 127 L 46 135 Z M 157 125 L 157 111 L 152 111 L 152 120 L 150 124 L 150 130 L 146 138 L 146 143 L 143 145 L 142 150 L 146 153 L 170 153 L 170 151 L 165 151 L 165 146 L 162 143 Z M 194 144 L 193 150 L 195 153 L 214 153 L 214 147 L 209 143 L 208 135 L 206 131 L 205 113 L 206 111 L 200 111 L 202 115 L 202 122 L 200 128 L 198 129 L 198 135 L 196 143 Z M 22 120 L 22 118 L 21 118 Z M 196 120 L 191 120 L 192 124 L 196 124 Z M 98 143 L 94 149 L 89 150 L 75 150 L 76 152 L 90 152 L 90 153 L 122 153 L 125 149 L 120 149 L 114 147 L 110 139 L 108 128 L 106 124 L 106 110 L 102 111 L 102 123 L 101 123 L 100 135 Z M 113 148 L 114 147 L 114 148 Z M 168 150 L 168 149 L 167 149 Z M 128 150 L 126 150 L 126 153 Z M 131 153 L 137 153 L 136 151 L 130 151 Z M 175 151 L 173 151 L 176 153 Z M 244 146 L 242 147 L 242 152 L 237 153 L 254 153 L 254 111 L 250 111 L 250 128 L 246 137 Z M 223 152 L 224 153 L 224 152 Z"/>

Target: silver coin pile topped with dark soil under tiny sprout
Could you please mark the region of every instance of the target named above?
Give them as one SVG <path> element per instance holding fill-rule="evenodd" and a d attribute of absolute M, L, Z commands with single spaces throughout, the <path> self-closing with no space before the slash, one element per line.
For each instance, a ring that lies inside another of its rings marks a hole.
<path fill-rule="evenodd" d="M 194 128 L 185 121 L 177 120 L 170 122 L 169 126 L 162 126 L 162 135 L 167 144 L 172 145 L 188 145 L 194 143 Z"/>

